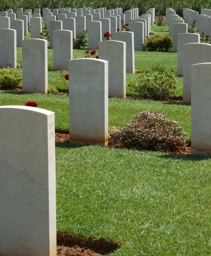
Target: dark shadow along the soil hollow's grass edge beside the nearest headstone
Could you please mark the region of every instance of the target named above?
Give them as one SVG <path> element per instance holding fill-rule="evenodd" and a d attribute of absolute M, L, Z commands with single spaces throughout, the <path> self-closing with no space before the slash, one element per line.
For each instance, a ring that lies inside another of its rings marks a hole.
<path fill-rule="evenodd" d="M 73 247 L 78 245 L 81 248 L 91 249 L 95 253 L 107 255 L 113 253 L 114 250 L 120 248 L 120 244 L 114 241 L 110 241 L 104 237 L 91 238 L 86 236 L 71 235 L 65 231 L 57 231 L 57 245 L 64 245 L 66 247 Z"/>

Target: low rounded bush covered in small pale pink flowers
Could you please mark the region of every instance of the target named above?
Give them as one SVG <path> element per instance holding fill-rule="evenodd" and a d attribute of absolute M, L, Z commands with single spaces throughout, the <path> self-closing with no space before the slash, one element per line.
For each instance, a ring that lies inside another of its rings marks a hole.
<path fill-rule="evenodd" d="M 187 145 L 187 134 L 183 128 L 178 122 L 165 118 L 165 115 L 143 111 L 132 117 L 134 120 L 123 127 L 109 129 L 111 143 L 160 151 Z"/>

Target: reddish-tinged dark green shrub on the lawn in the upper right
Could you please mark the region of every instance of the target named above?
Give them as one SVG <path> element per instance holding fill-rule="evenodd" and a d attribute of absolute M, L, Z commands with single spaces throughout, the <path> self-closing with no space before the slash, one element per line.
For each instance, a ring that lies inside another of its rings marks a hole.
<path fill-rule="evenodd" d="M 144 51 L 149 52 L 172 52 L 171 35 L 157 34 L 152 37 L 146 36 L 146 44 L 143 45 Z"/>

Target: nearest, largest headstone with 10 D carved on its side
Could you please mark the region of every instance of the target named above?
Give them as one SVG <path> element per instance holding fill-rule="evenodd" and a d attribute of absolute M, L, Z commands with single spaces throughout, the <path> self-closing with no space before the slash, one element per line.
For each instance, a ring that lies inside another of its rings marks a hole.
<path fill-rule="evenodd" d="M 55 256 L 54 112 L 1 106 L 0 119 L 0 255 Z"/>

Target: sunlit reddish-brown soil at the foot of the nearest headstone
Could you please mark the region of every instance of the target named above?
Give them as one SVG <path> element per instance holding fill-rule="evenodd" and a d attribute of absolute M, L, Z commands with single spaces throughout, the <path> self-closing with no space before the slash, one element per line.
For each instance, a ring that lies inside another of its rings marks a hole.
<path fill-rule="evenodd" d="M 57 256 L 102 256 L 94 251 L 81 248 L 77 245 L 74 247 L 57 246 Z"/>

